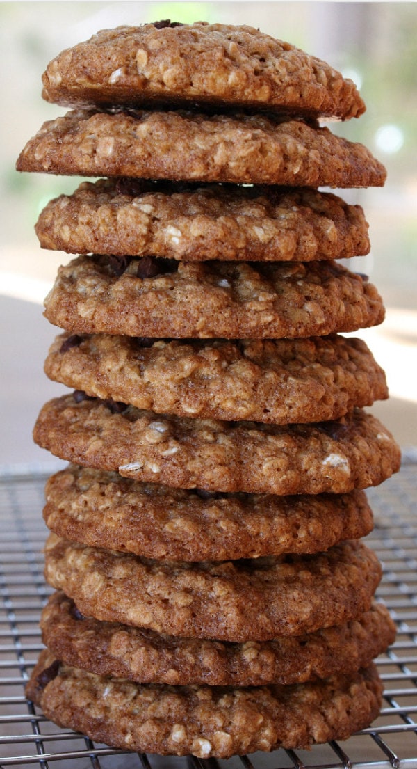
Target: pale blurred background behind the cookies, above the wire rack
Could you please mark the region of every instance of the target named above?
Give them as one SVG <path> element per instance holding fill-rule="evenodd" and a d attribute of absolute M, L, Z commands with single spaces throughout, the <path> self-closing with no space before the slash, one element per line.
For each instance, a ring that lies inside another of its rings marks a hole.
<path fill-rule="evenodd" d="M 162 18 L 248 24 L 324 58 L 359 86 L 362 118 L 332 130 L 362 141 L 384 162 L 383 189 L 339 192 L 366 212 L 371 254 L 349 267 L 370 275 L 387 307 L 385 323 L 360 332 L 386 368 L 391 398 L 376 413 L 403 447 L 417 444 L 417 5 L 402 2 L 0 2 L 0 468 L 58 467 L 35 447 L 41 405 L 65 388 L 42 371 L 58 330 L 42 301 L 58 265 L 71 257 L 41 251 L 33 227 L 47 201 L 78 179 L 19 175 L 15 159 L 45 120 L 63 111 L 41 99 L 41 73 L 63 48 L 117 25 Z M 357 334 L 359 335 L 359 334 Z"/>

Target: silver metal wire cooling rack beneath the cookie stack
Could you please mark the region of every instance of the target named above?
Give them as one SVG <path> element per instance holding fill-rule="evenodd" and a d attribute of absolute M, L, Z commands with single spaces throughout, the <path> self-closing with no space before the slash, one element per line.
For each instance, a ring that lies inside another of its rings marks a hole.
<path fill-rule="evenodd" d="M 414 460 L 414 461 L 412 461 Z M 394 646 L 379 658 L 385 684 L 382 713 L 372 727 L 343 743 L 311 751 L 274 751 L 230 761 L 114 751 L 51 724 L 25 699 L 24 686 L 41 639 L 38 620 L 49 589 L 42 576 L 41 520 L 45 476 L 0 478 L 0 769 L 417 769 L 417 478 L 415 456 L 369 498 L 376 514 L 367 539 L 382 561 L 379 599 L 398 624 Z"/>

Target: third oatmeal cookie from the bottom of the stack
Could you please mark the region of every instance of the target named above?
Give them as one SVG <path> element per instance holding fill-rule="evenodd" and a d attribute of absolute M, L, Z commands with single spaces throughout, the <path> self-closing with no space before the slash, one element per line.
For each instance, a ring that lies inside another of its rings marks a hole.
<path fill-rule="evenodd" d="M 241 561 L 154 561 L 50 534 L 45 578 L 81 614 L 157 633 L 272 641 L 368 611 L 382 570 L 360 541 L 326 553 Z"/>

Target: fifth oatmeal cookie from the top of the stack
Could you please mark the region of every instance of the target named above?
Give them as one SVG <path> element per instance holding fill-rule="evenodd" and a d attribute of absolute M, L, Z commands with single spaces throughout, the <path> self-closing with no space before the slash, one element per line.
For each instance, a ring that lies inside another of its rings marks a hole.
<path fill-rule="evenodd" d="M 52 380 L 158 413 L 224 420 L 314 422 L 388 398 L 384 372 L 355 338 L 157 341 L 58 336 Z"/>

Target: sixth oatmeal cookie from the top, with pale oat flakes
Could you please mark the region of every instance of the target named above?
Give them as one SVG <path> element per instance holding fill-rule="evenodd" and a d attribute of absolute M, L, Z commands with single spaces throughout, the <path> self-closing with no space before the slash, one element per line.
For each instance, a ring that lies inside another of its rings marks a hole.
<path fill-rule="evenodd" d="M 356 409 L 339 421 L 280 427 L 157 416 L 63 395 L 45 404 L 34 438 L 52 454 L 137 481 L 207 491 L 342 494 L 399 469 L 392 435 Z"/>

